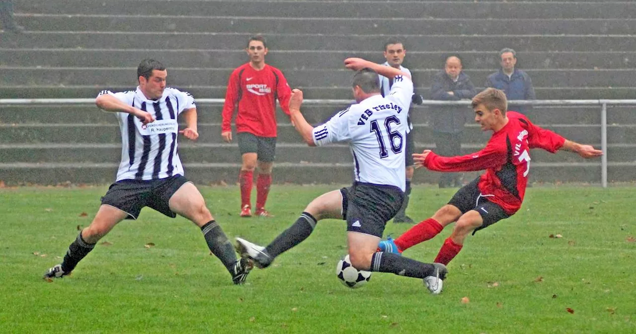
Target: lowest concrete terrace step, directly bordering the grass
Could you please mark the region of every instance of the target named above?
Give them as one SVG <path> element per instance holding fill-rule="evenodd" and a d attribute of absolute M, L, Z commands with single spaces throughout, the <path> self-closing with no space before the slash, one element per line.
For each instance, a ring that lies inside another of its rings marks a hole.
<path fill-rule="evenodd" d="M 15 184 L 59 184 L 72 183 L 113 183 L 118 164 L 3 164 L 0 175 L 8 186 Z M 610 163 L 607 174 L 610 182 L 625 182 L 636 179 L 636 164 Z M 536 163 L 532 165 L 532 182 L 585 182 L 600 183 L 600 163 L 582 162 L 563 167 L 562 164 Z M 240 164 L 185 164 L 186 177 L 195 183 L 211 184 L 223 181 L 235 184 L 238 180 Z M 437 183 L 439 172 L 417 170 L 414 183 Z M 476 173 L 467 173 L 467 179 Z M 343 184 L 353 180 L 353 165 L 335 164 L 287 164 L 277 163 L 273 170 L 274 183 L 297 184 Z"/>

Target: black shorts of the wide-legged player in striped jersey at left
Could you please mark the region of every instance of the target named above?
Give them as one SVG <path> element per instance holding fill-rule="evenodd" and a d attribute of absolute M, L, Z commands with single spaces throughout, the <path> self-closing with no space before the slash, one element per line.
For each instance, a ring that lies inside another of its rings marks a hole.
<path fill-rule="evenodd" d="M 181 175 L 156 180 L 121 180 L 111 184 L 106 195 L 102 197 L 102 205 L 111 205 L 128 214 L 126 219 L 137 219 L 144 206 L 175 218 L 176 213 L 170 210 L 168 202 L 174 193 L 190 181 Z"/>

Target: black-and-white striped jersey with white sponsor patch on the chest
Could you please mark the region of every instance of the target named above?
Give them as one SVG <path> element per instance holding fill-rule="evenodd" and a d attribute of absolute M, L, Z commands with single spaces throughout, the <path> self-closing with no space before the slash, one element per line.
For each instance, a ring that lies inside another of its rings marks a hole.
<path fill-rule="evenodd" d="M 99 95 L 103 94 L 113 95 L 155 117 L 155 122 L 143 125 L 133 115 L 115 113 L 121 130 L 121 162 L 116 181 L 183 175 L 183 165 L 177 154 L 177 116 L 186 109 L 197 108 L 194 97 L 176 88 L 165 88 L 162 97 L 156 101 L 146 99 L 139 87 L 117 93 L 103 90 Z"/>

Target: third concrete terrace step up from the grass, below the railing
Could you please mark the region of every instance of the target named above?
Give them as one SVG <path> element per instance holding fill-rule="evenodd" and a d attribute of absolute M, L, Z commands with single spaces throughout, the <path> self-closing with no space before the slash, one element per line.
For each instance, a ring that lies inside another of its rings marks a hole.
<path fill-rule="evenodd" d="M 182 125 L 183 126 L 183 125 Z M 417 143 L 434 143 L 428 125 L 415 124 L 413 139 Z M 600 143 L 600 125 L 548 125 L 546 129 L 579 143 Z M 199 141 L 222 143 L 221 125 L 200 123 Z M 476 125 L 467 125 L 462 143 L 486 143 L 490 133 L 481 132 Z M 279 125 L 279 143 L 301 143 L 300 135 L 289 124 Z M 636 125 L 610 125 L 607 127 L 608 143 L 636 143 Z M 104 124 L 43 124 L 0 125 L 0 143 L 121 143 L 118 125 Z"/>

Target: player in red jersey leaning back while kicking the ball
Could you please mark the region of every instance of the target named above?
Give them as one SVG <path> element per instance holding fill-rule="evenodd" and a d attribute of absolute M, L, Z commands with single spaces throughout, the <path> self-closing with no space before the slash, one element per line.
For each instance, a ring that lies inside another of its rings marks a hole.
<path fill-rule="evenodd" d="M 555 153 L 576 152 L 583 158 L 600 157 L 603 152 L 590 145 L 569 141 L 550 130 L 532 124 L 515 111 L 506 111 L 506 94 L 487 88 L 473 98 L 475 122 L 481 130 L 493 134 L 483 150 L 462 157 L 441 157 L 431 150 L 414 154 L 415 167 L 440 172 L 486 170 L 453 195 L 453 198 L 429 218 L 413 226 L 395 240 L 380 242 L 382 251 L 402 253 L 405 249 L 437 235 L 456 221 L 450 237 L 444 241 L 435 262 L 447 265 L 459 253 L 471 232 L 486 228 L 519 210 L 525 195 L 532 148 Z"/>

